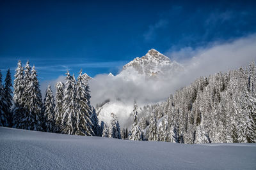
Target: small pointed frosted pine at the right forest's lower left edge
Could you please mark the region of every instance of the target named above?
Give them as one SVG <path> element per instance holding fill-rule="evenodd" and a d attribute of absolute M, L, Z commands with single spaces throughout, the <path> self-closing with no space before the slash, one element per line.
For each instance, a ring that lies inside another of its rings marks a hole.
<path fill-rule="evenodd" d="M 156 113 L 152 111 L 148 127 L 148 141 L 158 141 Z"/>

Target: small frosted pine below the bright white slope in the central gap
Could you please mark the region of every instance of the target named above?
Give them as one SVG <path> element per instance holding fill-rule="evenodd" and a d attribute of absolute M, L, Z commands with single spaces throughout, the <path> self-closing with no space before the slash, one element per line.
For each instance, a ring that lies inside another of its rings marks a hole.
<path fill-rule="evenodd" d="M 120 125 L 114 113 L 111 113 L 111 123 L 109 127 L 109 138 L 121 139 Z"/>

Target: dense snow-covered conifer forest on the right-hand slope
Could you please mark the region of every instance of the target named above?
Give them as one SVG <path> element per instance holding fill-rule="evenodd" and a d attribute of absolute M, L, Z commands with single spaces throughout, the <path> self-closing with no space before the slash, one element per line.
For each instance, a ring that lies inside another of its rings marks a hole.
<path fill-rule="evenodd" d="M 167 101 L 141 108 L 140 129 L 133 134 L 142 131 L 148 141 L 188 144 L 255 143 L 255 92 L 255 62 L 198 78 Z"/>

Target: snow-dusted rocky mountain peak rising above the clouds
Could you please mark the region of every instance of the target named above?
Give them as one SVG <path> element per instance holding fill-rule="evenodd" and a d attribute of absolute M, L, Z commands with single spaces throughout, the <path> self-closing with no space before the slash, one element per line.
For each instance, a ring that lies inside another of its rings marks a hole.
<path fill-rule="evenodd" d="M 171 60 L 155 49 L 149 50 L 143 57 L 136 57 L 134 60 L 125 64 L 122 71 L 135 69 L 139 74 L 154 77 L 169 71 L 181 71 L 182 66 Z"/>

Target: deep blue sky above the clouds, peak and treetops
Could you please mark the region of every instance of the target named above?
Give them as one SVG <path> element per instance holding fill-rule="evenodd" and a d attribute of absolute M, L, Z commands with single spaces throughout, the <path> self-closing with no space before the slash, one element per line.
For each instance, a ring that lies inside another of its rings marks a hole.
<path fill-rule="evenodd" d="M 0 69 L 14 73 L 17 60 L 29 60 L 41 81 L 67 69 L 116 74 L 151 48 L 168 55 L 253 34 L 255 8 L 255 1 L 0 1 Z"/>

